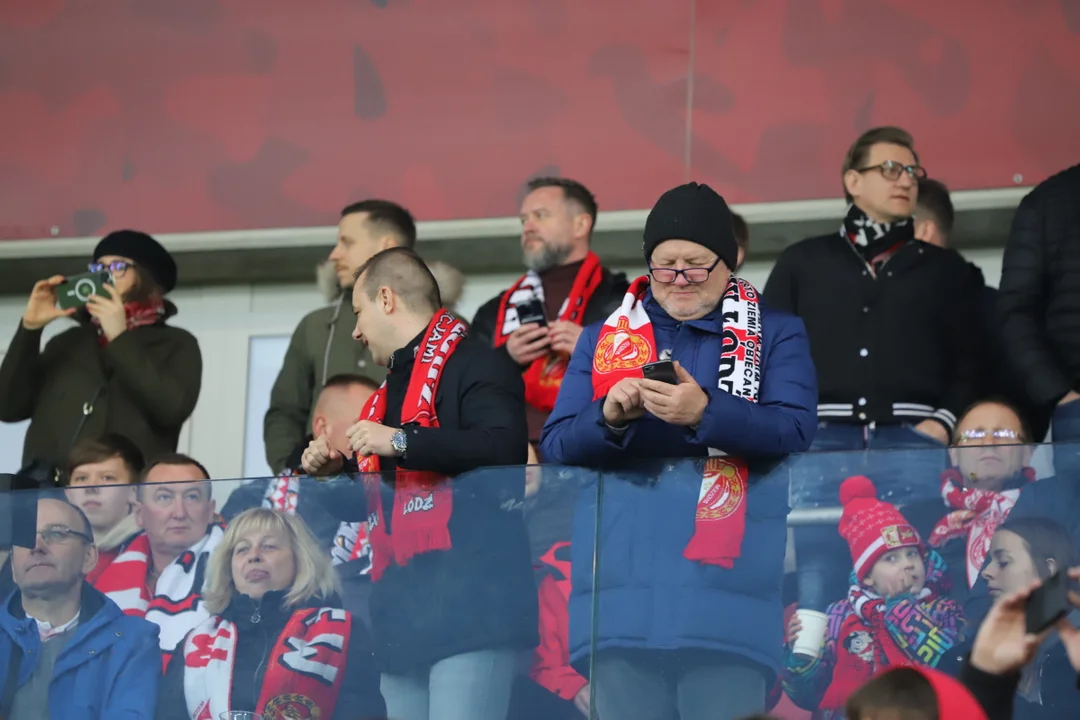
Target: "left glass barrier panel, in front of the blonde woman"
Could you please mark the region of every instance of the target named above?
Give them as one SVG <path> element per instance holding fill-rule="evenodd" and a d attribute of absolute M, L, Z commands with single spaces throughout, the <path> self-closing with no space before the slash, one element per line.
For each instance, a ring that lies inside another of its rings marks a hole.
<path fill-rule="evenodd" d="M 0 491 L 0 675 L 36 619 L 59 657 L 93 651 L 52 693 L 78 717 L 588 711 L 567 599 L 595 473 L 194 477 Z M 31 688 L 17 683 L 13 717 L 39 717 Z"/>

